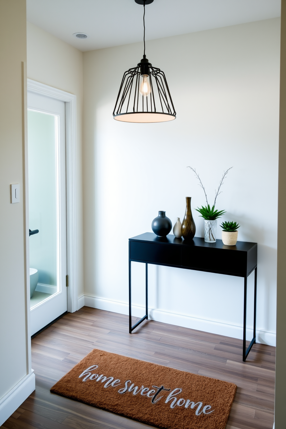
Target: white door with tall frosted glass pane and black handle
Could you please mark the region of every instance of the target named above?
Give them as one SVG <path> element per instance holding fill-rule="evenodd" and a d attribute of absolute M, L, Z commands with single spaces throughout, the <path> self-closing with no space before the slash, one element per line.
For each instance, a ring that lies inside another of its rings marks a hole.
<path fill-rule="evenodd" d="M 33 335 L 67 310 L 65 103 L 28 92 L 27 117 Z"/>

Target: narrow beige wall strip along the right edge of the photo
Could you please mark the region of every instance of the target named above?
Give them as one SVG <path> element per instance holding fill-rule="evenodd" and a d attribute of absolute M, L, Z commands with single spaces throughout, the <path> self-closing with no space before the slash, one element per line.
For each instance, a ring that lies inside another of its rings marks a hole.
<path fill-rule="evenodd" d="M 286 428 L 286 0 L 281 6 L 275 429 Z"/>

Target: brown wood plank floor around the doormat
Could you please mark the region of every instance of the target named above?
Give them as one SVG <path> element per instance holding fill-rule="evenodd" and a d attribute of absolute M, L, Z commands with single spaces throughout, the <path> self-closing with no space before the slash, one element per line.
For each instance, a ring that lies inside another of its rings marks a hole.
<path fill-rule="evenodd" d="M 243 363 L 241 340 L 151 320 L 129 335 L 127 316 L 83 307 L 33 338 L 36 391 L 1 428 L 151 427 L 50 393 L 93 348 L 231 381 L 238 389 L 226 429 L 273 427 L 275 347 L 254 344 Z"/>

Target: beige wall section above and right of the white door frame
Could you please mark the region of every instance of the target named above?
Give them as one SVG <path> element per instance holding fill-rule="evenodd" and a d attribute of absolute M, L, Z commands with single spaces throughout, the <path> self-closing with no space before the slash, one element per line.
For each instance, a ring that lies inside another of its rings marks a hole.
<path fill-rule="evenodd" d="M 27 77 L 76 95 L 76 231 L 78 295 L 83 293 L 82 237 L 82 52 L 27 22 Z"/>

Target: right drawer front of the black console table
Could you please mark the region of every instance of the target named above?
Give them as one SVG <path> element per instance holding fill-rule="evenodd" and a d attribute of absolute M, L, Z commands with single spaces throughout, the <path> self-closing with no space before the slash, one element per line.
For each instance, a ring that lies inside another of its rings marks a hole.
<path fill-rule="evenodd" d="M 247 273 L 247 252 L 185 247 L 182 249 L 182 266 L 244 276 Z"/>

